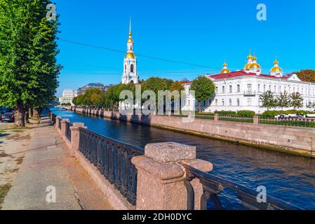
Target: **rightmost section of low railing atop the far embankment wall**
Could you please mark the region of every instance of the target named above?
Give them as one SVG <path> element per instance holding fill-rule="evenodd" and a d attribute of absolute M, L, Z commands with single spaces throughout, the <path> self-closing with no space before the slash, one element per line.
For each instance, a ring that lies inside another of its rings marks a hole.
<path fill-rule="evenodd" d="M 258 123 L 264 125 L 315 127 L 315 120 L 309 118 L 259 118 Z"/>

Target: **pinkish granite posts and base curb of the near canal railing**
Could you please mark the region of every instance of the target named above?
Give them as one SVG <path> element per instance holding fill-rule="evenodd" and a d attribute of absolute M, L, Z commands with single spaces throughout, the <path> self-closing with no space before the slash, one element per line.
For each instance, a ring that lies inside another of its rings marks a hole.
<path fill-rule="evenodd" d="M 56 119 L 58 130 L 60 120 Z M 83 123 L 74 123 L 71 130 L 71 141 L 65 138 L 67 119 L 61 120 L 62 139 L 65 139 L 72 156 L 76 157 L 86 171 L 95 179 L 105 196 L 111 201 L 115 209 L 138 210 L 173 210 L 187 209 L 187 189 L 185 188 L 186 172 L 183 164 L 189 165 L 203 172 L 210 172 L 213 165 L 210 162 L 196 159 L 196 147 L 177 143 L 148 144 L 145 155 L 136 156 L 130 162 L 138 169 L 137 200 L 132 207 L 126 199 L 112 186 L 97 167 L 86 160 L 79 152 L 80 128 Z M 200 209 L 200 199 L 203 188 L 198 179 L 192 181 L 195 192 L 195 209 Z"/>

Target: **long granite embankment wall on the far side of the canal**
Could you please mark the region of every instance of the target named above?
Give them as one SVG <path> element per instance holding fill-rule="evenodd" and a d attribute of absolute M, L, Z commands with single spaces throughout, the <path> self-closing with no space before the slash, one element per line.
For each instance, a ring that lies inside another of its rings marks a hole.
<path fill-rule="evenodd" d="M 74 109 L 74 111 L 315 158 L 315 128 L 254 125 L 204 119 L 183 123 L 182 118 L 172 116 L 123 116 L 116 111 L 94 109 Z"/>

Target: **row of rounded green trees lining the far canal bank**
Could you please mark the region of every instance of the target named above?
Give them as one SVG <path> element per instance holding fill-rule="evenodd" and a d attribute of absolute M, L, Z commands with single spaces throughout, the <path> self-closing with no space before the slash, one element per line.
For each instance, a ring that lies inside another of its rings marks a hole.
<path fill-rule="evenodd" d="M 169 90 L 173 92 L 177 90 L 181 92 L 185 90 L 184 85 L 179 81 L 173 81 L 165 78 L 152 77 L 140 83 L 142 92 L 146 90 L 152 90 L 156 96 L 159 90 Z M 85 94 L 81 94 L 73 99 L 73 104 L 78 106 L 96 106 L 104 107 L 107 109 L 118 109 L 119 107 L 119 95 L 123 90 L 130 90 L 135 95 L 134 84 L 119 84 L 109 87 L 107 92 L 102 92 L 98 89 L 91 89 L 86 91 Z M 200 76 L 192 82 L 191 90 L 195 91 L 196 100 L 199 102 L 199 111 L 201 111 L 201 102 L 208 99 L 211 94 L 215 92 L 215 85 L 212 80 L 205 76 Z M 157 99 L 156 99 L 157 100 Z"/>

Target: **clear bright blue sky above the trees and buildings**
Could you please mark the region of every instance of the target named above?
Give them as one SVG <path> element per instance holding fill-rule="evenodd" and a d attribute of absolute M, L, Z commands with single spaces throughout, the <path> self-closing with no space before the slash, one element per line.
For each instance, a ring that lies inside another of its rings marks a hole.
<path fill-rule="evenodd" d="M 224 58 L 230 69 L 242 69 L 250 48 L 263 73 L 269 73 L 275 56 L 286 73 L 315 69 L 314 0 L 55 2 L 61 23 L 58 62 L 64 66 L 58 96 L 63 89 L 76 90 L 86 83 L 120 82 L 124 54 L 104 48 L 126 50 L 130 15 L 143 79 L 181 80 L 218 73 Z M 267 6 L 267 21 L 256 19 L 258 3 Z"/>

